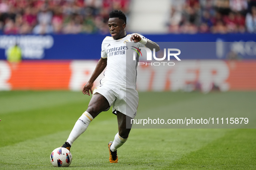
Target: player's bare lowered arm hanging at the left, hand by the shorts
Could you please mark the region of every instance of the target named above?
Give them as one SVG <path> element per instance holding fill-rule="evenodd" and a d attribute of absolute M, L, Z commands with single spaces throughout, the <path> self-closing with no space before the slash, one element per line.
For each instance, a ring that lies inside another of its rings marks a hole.
<path fill-rule="evenodd" d="M 91 88 L 93 87 L 93 83 L 97 79 L 97 77 L 100 75 L 100 73 L 103 72 L 103 70 L 106 68 L 106 66 L 107 66 L 107 59 L 100 58 L 100 60 L 98 61 L 97 65 L 96 65 L 96 68 L 94 69 L 94 72 L 91 75 L 91 78 L 86 83 L 86 85 L 84 85 L 84 88 L 82 90 L 83 94 L 88 94 L 90 96 L 90 91 L 92 94 Z"/>

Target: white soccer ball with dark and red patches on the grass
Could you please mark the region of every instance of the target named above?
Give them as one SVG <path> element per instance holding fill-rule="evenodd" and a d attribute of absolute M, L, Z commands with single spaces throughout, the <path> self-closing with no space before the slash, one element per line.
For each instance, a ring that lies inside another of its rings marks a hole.
<path fill-rule="evenodd" d="M 68 167 L 72 161 L 72 155 L 66 148 L 56 148 L 50 156 L 51 163 L 55 167 Z"/>

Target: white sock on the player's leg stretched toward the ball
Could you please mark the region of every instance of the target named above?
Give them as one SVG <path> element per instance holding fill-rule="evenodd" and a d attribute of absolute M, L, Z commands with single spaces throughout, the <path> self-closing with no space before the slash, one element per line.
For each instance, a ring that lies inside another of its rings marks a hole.
<path fill-rule="evenodd" d="M 92 120 L 93 117 L 91 116 L 91 114 L 85 111 L 75 123 L 75 126 L 70 132 L 70 135 L 68 136 L 67 142 L 72 145 L 72 143 L 87 129 Z"/>

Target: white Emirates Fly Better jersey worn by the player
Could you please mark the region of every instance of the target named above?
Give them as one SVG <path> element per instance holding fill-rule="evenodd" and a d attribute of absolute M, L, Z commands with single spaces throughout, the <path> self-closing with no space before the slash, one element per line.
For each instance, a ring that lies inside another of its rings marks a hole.
<path fill-rule="evenodd" d="M 102 41 L 101 58 L 107 59 L 107 69 L 101 82 L 110 81 L 119 84 L 121 87 L 136 89 L 138 60 L 133 60 L 133 49 L 136 50 L 136 48 L 145 47 L 145 45 L 128 43 L 131 42 L 131 36 L 129 34 L 119 40 L 106 37 Z M 139 36 L 145 38 L 142 35 Z"/>

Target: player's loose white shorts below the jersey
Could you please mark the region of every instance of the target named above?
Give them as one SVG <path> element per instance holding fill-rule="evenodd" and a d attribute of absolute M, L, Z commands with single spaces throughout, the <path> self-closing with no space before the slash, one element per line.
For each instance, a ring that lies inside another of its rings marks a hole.
<path fill-rule="evenodd" d="M 99 93 L 107 99 L 110 107 L 113 106 L 114 114 L 119 111 L 133 119 L 136 116 L 139 94 L 135 89 L 124 88 L 113 82 L 104 82 L 94 89 L 93 94 L 95 93 Z"/>

